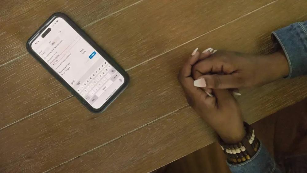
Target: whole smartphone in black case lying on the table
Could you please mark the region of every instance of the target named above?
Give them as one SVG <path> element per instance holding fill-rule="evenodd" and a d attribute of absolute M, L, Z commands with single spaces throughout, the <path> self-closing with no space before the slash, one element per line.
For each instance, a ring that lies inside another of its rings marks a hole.
<path fill-rule="evenodd" d="M 26 46 L 91 112 L 103 112 L 129 83 L 128 74 L 63 13 L 52 14 Z"/>

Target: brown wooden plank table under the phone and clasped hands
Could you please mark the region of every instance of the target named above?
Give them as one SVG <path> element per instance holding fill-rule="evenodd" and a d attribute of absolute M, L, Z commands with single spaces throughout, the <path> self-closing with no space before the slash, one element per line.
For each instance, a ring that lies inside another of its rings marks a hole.
<path fill-rule="evenodd" d="M 199 47 L 268 53 L 270 33 L 307 20 L 305 0 L 1 0 L 0 172 L 149 172 L 214 142 L 177 82 Z M 26 40 L 68 14 L 126 69 L 128 88 L 89 112 L 33 57 Z M 263 70 L 270 67 L 264 67 Z M 241 91 L 253 123 L 307 96 L 307 78 Z"/>

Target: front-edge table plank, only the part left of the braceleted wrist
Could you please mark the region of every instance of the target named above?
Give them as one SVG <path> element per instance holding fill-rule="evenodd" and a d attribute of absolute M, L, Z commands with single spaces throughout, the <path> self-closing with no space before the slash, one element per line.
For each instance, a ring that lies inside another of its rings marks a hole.
<path fill-rule="evenodd" d="M 213 140 L 214 132 L 185 107 L 51 172 L 150 172 Z"/>

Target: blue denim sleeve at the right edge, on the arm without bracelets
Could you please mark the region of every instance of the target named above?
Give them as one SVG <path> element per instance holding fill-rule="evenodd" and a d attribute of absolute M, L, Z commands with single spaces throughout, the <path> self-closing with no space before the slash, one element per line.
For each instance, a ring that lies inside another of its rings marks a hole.
<path fill-rule="evenodd" d="M 289 78 L 307 75 L 307 21 L 293 23 L 272 32 L 276 47 L 281 47 L 288 59 Z"/>

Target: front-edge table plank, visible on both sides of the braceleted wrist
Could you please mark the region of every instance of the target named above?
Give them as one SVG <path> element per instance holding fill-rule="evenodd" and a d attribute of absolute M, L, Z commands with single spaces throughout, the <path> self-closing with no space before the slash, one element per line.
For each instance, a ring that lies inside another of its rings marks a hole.
<path fill-rule="evenodd" d="M 307 85 L 306 79 L 307 77 L 302 77 L 292 81 L 296 84 L 301 81 L 300 85 L 305 83 L 298 87 L 304 88 Z M 278 92 L 272 89 L 274 85 L 278 85 L 276 87 Z M 285 91 L 291 88 L 284 81 L 277 81 L 256 89 L 253 91 L 255 94 L 246 93 L 247 97 L 255 96 L 256 98 L 250 101 L 250 104 L 254 104 L 256 108 L 250 105 L 248 108 L 252 110 L 248 110 L 247 107 L 243 110 L 246 121 L 255 122 L 284 108 L 288 103 L 292 104 L 293 100 L 285 94 Z M 266 93 L 266 95 L 258 96 L 261 91 L 269 92 L 268 90 L 274 94 Z M 306 90 L 302 94 L 307 96 Z M 299 96 L 299 92 L 295 96 Z M 264 99 L 259 99 L 260 97 Z M 240 103 L 244 101 L 247 101 L 246 98 L 239 99 Z M 271 104 L 266 104 L 267 101 L 280 106 L 271 106 Z M 263 107 L 263 105 L 266 106 Z M 150 172 L 215 141 L 212 129 L 192 108 L 186 106 L 119 140 L 57 167 L 51 172 Z"/>

